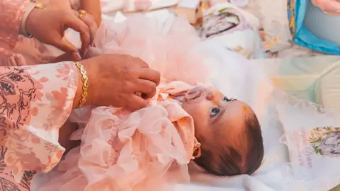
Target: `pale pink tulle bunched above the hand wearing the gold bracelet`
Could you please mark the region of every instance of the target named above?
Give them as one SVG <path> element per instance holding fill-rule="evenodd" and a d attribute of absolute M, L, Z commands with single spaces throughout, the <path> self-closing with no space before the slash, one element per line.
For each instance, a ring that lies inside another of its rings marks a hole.
<path fill-rule="evenodd" d="M 204 57 L 193 49 L 201 40 L 196 30 L 181 18 L 131 16 L 124 23 L 103 21 L 96 33 L 95 45 L 103 54 L 130 54 L 161 72 L 169 81 L 205 83 L 209 69 Z"/>

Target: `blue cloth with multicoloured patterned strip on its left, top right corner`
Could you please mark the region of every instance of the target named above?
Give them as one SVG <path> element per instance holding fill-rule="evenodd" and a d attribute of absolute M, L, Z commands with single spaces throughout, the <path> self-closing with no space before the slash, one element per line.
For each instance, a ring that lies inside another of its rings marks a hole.
<path fill-rule="evenodd" d="M 334 42 L 322 40 L 313 35 L 310 30 L 305 28 L 304 20 L 310 0 L 288 0 L 288 20 L 290 21 L 290 32 L 293 41 L 302 47 L 317 50 L 326 54 L 340 55 L 340 47 Z M 336 23 L 334 23 L 336 24 Z"/>

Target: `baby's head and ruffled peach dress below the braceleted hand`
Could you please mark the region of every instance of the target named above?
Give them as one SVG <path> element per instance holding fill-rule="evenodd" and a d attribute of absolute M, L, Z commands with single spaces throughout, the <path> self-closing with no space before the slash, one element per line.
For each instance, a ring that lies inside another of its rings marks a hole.
<path fill-rule="evenodd" d="M 71 116 L 81 127 L 71 139 L 81 146 L 40 191 L 159 189 L 183 181 L 191 160 L 213 175 L 251 175 L 261 166 L 261 128 L 249 105 L 182 81 L 161 83 L 157 91 L 135 112 L 101 107 L 88 110 L 89 117 L 84 108 Z"/>

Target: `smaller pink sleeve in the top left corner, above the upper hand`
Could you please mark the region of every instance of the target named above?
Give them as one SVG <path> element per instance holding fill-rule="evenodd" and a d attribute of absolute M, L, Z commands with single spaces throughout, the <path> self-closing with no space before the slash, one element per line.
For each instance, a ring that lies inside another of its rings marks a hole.
<path fill-rule="evenodd" d="M 20 21 L 30 0 L 0 1 L 0 57 L 11 54 L 18 40 Z"/>

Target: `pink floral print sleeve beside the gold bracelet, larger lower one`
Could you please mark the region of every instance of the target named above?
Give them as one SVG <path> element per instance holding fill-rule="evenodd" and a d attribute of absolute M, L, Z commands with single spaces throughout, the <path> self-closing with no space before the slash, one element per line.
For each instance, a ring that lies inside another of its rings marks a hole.
<path fill-rule="evenodd" d="M 78 75 L 73 62 L 0 67 L 0 190 L 30 190 L 34 172 L 60 161 Z"/>

